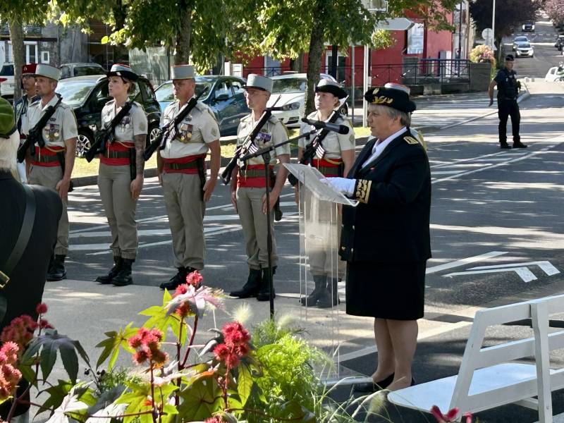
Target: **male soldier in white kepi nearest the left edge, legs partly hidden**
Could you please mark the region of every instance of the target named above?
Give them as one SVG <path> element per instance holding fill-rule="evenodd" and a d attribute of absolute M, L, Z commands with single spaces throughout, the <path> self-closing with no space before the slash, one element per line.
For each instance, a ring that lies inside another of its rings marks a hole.
<path fill-rule="evenodd" d="M 23 121 L 22 132 L 29 134 L 41 119 L 49 106 L 59 102 L 55 89 L 61 78 L 59 68 L 45 64 L 38 64 L 35 70 L 35 85 L 37 94 L 41 96 L 40 102 L 35 102 L 27 110 L 27 119 Z M 45 147 L 35 145 L 35 156 L 28 154 L 26 164 L 29 171 L 27 180 L 32 185 L 42 185 L 59 192 L 63 200 L 63 214 L 59 221 L 57 242 L 54 256 L 47 271 L 47 281 L 61 281 L 66 278 L 65 257 L 68 251 L 68 213 L 67 194 L 71 184 L 71 173 L 75 164 L 76 137 L 78 130 L 73 111 L 65 103 L 59 103 L 49 122 L 41 130 Z M 64 157 L 64 171 L 61 168 L 61 159 Z"/>

